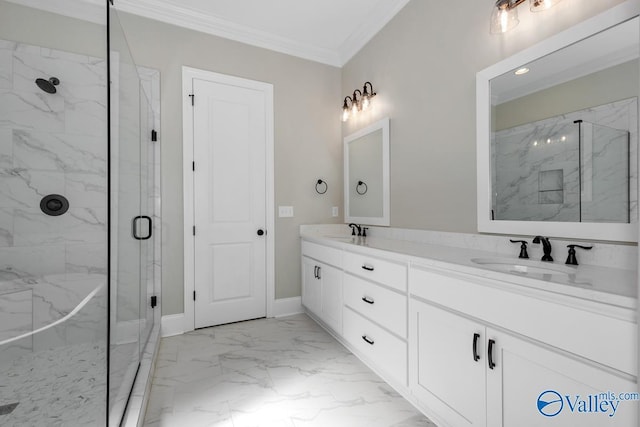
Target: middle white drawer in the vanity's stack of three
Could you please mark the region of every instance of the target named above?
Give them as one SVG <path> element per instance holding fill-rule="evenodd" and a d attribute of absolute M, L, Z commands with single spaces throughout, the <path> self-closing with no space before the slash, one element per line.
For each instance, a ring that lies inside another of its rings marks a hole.
<path fill-rule="evenodd" d="M 407 297 L 351 274 L 344 275 L 344 303 L 353 310 L 407 337 Z"/>

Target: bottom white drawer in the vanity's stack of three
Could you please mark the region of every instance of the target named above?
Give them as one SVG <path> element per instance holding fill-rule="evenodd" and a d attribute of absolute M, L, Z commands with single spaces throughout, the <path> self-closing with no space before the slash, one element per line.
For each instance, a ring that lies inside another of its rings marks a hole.
<path fill-rule="evenodd" d="M 348 307 L 343 313 L 343 336 L 358 352 L 389 374 L 393 380 L 407 385 L 407 343 L 375 325 Z"/>

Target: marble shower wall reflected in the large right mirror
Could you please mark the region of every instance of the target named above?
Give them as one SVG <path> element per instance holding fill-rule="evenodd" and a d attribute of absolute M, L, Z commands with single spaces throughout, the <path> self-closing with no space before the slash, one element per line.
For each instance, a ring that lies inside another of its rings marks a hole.
<path fill-rule="evenodd" d="M 495 219 L 637 222 L 637 111 L 630 98 L 494 133 Z"/>

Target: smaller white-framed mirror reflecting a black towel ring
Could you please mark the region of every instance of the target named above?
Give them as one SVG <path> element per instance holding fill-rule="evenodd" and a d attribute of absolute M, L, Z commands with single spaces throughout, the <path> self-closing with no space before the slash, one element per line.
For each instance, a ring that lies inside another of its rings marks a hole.
<path fill-rule="evenodd" d="M 389 119 L 344 138 L 345 221 L 389 225 Z"/>

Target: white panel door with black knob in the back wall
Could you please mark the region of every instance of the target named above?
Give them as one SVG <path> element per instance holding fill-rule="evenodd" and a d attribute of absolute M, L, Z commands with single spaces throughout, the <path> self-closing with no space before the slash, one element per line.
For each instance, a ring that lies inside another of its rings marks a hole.
<path fill-rule="evenodd" d="M 195 327 L 266 315 L 266 96 L 193 79 Z"/>

